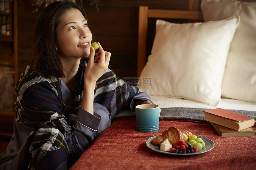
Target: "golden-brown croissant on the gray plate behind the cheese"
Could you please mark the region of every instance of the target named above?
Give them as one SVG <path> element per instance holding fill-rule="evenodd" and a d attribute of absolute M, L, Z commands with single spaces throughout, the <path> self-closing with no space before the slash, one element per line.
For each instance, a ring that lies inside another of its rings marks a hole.
<path fill-rule="evenodd" d="M 169 142 L 174 145 L 179 140 L 186 142 L 191 135 L 193 134 L 189 131 L 181 131 L 175 127 L 171 127 L 168 130 L 165 130 L 162 135 L 152 139 L 151 143 L 154 145 L 160 145 L 165 139 L 168 139 Z"/>

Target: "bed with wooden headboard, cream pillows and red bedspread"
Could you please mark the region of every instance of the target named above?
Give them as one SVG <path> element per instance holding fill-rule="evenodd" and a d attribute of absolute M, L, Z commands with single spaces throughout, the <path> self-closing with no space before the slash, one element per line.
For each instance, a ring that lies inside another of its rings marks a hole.
<path fill-rule="evenodd" d="M 218 136 L 203 111 L 219 107 L 256 118 L 256 4 L 203 0 L 202 12 L 197 8 L 198 1 L 190 0 L 188 11 L 139 9 L 138 86 L 160 105 L 159 131 L 136 131 L 135 112 L 122 111 L 70 169 L 255 169 L 256 136 Z M 148 18 L 160 18 L 149 55 Z M 169 127 L 214 144 L 195 155 L 150 148 L 146 142 Z"/>

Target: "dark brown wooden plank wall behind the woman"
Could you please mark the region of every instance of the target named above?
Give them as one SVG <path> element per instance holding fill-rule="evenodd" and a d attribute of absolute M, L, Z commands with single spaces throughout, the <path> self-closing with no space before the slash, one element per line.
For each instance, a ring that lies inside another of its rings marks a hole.
<path fill-rule="evenodd" d="M 18 0 L 18 75 L 29 59 L 33 30 L 41 11 L 32 12 L 35 8 L 31 2 Z M 120 78 L 137 77 L 139 6 L 188 10 L 188 0 L 101 0 L 98 9 L 84 0 L 83 5 L 96 41 L 111 53 L 110 69 Z"/>

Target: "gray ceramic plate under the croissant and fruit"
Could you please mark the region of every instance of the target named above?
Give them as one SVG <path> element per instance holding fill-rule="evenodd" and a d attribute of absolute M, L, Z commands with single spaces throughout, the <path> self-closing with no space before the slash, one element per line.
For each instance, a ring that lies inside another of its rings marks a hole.
<path fill-rule="evenodd" d="M 157 136 L 153 136 L 151 138 L 149 138 L 146 142 L 146 145 L 147 147 L 149 147 L 150 149 L 156 151 L 156 152 L 160 152 L 160 153 L 164 153 L 164 154 L 169 154 L 169 155 L 197 155 L 197 154 L 201 154 L 201 153 L 205 153 L 205 152 L 208 152 L 210 150 L 212 150 L 214 148 L 214 142 L 206 137 L 203 137 L 203 136 L 199 136 L 199 135 L 196 135 L 197 137 L 199 138 L 202 138 L 203 141 L 205 142 L 205 147 L 203 147 L 202 150 L 198 151 L 198 152 L 195 152 L 195 153 L 170 153 L 170 152 L 165 152 L 165 151 L 162 151 L 160 150 L 156 145 L 153 145 L 151 143 L 152 139 L 156 138 Z M 185 142 L 185 143 L 188 143 Z"/>

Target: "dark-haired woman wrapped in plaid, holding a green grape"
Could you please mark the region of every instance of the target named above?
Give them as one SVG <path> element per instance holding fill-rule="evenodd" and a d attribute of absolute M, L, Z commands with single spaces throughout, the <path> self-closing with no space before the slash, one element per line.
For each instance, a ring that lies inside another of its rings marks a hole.
<path fill-rule="evenodd" d="M 32 60 L 15 86 L 14 134 L 2 169 L 67 169 L 110 126 L 111 117 L 149 96 L 108 69 L 96 53 L 82 7 L 47 6 L 36 24 Z"/>

